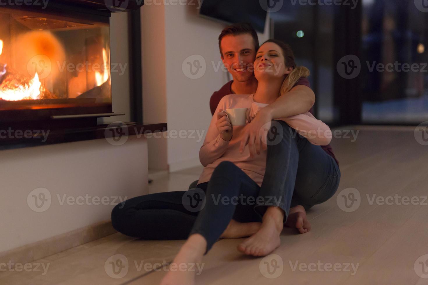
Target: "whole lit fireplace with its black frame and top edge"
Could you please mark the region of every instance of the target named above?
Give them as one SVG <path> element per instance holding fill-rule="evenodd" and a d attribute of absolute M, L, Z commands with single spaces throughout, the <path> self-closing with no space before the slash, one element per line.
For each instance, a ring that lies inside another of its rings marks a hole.
<path fill-rule="evenodd" d="M 43 6 L 42 1 L 9 1 L 0 6 L 0 126 L 55 126 L 65 119 L 94 122 L 115 115 L 110 13 L 138 9 L 140 2 L 50 0 Z"/>

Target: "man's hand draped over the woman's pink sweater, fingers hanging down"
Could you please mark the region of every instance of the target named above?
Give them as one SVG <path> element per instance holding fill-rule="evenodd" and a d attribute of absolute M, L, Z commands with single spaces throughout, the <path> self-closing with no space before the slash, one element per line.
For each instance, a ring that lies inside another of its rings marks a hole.
<path fill-rule="evenodd" d="M 271 109 L 265 107 L 261 109 L 256 117 L 251 120 L 251 123 L 244 127 L 239 146 L 239 152 L 243 153 L 245 146 L 248 144 L 250 150 L 250 157 L 253 158 L 255 154 L 260 154 L 263 150 L 267 150 L 266 139 L 272 123 Z"/>

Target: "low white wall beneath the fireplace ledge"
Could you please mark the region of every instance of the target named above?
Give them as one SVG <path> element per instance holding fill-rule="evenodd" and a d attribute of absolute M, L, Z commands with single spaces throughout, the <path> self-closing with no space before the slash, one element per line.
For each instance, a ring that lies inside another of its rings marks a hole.
<path fill-rule="evenodd" d="M 1 150 L 0 161 L 0 252 L 109 220 L 114 207 L 61 205 L 57 195 L 125 199 L 148 193 L 147 142 L 136 136 L 121 146 L 99 139 Z M 27 203 L 37 188 L 51 193 L 44 212 Z"/>

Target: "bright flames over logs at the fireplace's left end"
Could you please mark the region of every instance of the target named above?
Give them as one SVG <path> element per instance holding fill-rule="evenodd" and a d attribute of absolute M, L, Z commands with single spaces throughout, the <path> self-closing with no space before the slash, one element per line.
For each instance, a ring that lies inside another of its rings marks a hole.
<path fill-rule="evenodd" d="M 39 74 L 36 72 L 28 84 L 15 85 L 13 89 L 0 90 L 0 98 L 7 101 L 36 100 L 39 99 L 41 86 L 42 82 L 40 82 Z"/>

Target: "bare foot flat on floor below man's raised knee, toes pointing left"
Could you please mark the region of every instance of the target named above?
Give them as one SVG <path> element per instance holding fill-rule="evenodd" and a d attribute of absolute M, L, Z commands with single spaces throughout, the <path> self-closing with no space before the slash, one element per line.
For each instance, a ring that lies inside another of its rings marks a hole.
<path fill-rule="evenodd" d="M 238 245 L 238 250 L 252 256 L 267 256 L 281 244 L 279 234 L 282 231 L 282 217 L 276 221 L 265 218 L 259 231 Z"/>

